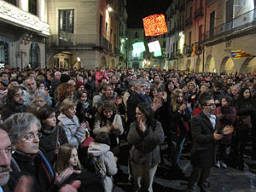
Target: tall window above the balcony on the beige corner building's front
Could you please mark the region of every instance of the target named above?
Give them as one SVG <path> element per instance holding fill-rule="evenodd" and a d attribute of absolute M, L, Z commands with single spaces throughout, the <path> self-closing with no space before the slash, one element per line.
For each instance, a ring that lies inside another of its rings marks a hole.
<path fill-rule="evenodd" d="M 74 10 L 59 10 L 59 43 L 73 43 Z"/>

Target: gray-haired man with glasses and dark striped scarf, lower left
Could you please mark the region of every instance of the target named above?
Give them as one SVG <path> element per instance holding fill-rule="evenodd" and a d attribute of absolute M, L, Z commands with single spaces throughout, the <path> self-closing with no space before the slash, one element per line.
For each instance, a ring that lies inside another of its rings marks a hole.
<path fill-rule="evenodd" d="M 68 168 L 55 175 L 48 160 L 39 151 L 41 125 L 32 113 L 16 113 L 10 116 L 5 120 L 4 128 L 8 131 L 10 142 L 15 147 L 11 162 L 12 170 L 31 176 L 39 192 L 56 191 L 73 172 L 80 173 Z"/>

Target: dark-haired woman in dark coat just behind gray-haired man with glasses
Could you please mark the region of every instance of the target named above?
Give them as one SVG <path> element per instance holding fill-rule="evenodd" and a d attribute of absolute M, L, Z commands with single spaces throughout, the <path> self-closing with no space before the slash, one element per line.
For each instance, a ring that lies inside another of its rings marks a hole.
<path fill-rule="evenodd" d="M 41 121 L 42 128 L 40 132 L 39 147 L 44 152 L 47 160 L 54 164 L 58 149 L 62 144 L 68 143 L 65 131 L 59 125 L 56 125 L 55 110 L 48 105 L 38 109 L 36 116 Z"/>

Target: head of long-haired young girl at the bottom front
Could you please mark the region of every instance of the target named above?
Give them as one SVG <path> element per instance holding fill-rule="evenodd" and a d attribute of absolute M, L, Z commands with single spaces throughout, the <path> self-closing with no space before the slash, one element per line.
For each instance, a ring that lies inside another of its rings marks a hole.
<path fill-rule="evenodd" d="M 55 168 L 56 172 L 60 173 L 66 170 L 68 167 L 72 168 L 73 170 L 81 169 L 77 148 L 70 143 L 65 143 L 59 150 Z"/>

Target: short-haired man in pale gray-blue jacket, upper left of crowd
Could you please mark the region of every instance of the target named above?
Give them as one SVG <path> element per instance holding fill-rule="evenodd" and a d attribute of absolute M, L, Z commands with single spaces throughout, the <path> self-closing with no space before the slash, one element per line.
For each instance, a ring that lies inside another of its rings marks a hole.
<path fill-rule="evenodd" d="M 37 96 L 38 94 L 41 96 L 44 96 L 44 100 L 45 102 L 47 102 L 47 104 L 49 106 L 51 106 L 52 101 L 51 98 L 48 94 L 48 91 L 45 90 L 38 90 L 37 88 L 37 83 L 36 80 L 33 78 L 27 78 L 26 79 L 26 92 L 24 93 L 24 105 L 29 105 L 33 99 L 35 98 L 35 96 Z"/>

